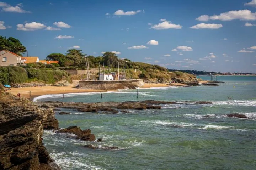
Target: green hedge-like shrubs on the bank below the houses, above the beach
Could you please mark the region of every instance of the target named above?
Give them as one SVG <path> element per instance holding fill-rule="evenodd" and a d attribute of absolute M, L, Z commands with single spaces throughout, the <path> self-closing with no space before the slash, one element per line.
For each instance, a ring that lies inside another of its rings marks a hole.
<path fill-rule="evenodd" d="M 52 65 L 52 67 L 54 66 Z M 69 75 L 64 70 L 59 70 L 55 67 L 49 70 L 33 67 L 25 70 L 18 66 L 0 67 L 0 82 L 2 84 L 26 83 L 31 81 L 52 84 L 62 79 L 71 81 Z"/>

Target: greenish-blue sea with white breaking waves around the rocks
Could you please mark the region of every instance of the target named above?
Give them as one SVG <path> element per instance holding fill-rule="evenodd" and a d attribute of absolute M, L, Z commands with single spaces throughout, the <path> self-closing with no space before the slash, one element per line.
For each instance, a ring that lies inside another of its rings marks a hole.
<path fill-rule="evenodd" d="M 210 80 L 209 76 L 198 76 Z M 256 76 L 218 76 L 219 86 L 165 87 L 117 92 L 39 96 L 34 101 L 211 101 L 162 104 L 161 110 L 55 117 L 60 128 L 91 129 L 102 142 L 77 140 L 45 130 L 43 143 L 63 170 L 255 170 Z M 229 98 L 231 97 L 231 99 Z M 229 118 L 239 113 L 247 119 Z M 85 148 L 92 144 L 99 149 Z M 118 149 L 105 150 L 116 146 Z"/>

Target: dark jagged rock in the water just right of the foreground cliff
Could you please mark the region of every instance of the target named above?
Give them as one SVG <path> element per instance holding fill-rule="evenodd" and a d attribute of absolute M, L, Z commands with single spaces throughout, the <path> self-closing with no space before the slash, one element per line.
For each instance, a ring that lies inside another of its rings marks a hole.
<path fill-rule="evenodd" d="M 77 135 L 76 139 L 81 139 L 81 140 L 84 140 L 84 141 L 95 141 L 95 139 L 96 139 L 94 134 L 91 134 L 90 129 L 81 130 L 77 126 L 69 126 L 68 128 L 61 129 L 61 130 L 57 131 L 56 133 L 75 134 L 75 135 Z"/>

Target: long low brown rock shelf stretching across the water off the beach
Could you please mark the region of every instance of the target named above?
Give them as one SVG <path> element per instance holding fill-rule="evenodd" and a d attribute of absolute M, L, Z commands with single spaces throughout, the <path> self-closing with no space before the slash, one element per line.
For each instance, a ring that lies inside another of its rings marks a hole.
<path fill-rule="evenodd" d="M 44 104 L 51 107 L 75 109 L 80 112 L 98 112 L 101 113 L 118 113 L 116 109 L 121 109 L 121 112 L 124 112 L 124 109 L 132 110 L 145 110 L 145 109 L 161 109 L 160 104 L 212 104 L 212 102 L 207 101 L 198 101 L 198 102 L 169 102 L 169 101 L 155 101 L 155 100 L 145 100 L 140 102 L 128 101 L 128 102 L 98 102 L 98 103 L 75 103 L 75 102 L 59 102 L 59 101 L 47 101 Z M 128 112 L 127 112 L 128 113 Z"/>

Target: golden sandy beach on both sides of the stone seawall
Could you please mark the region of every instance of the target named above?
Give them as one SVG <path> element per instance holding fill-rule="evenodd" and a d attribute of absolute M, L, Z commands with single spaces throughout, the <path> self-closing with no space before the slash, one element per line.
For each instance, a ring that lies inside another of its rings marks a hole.
<path fill-rule="evenodd" d="M 73 83 L 67 87 L 55 87 L 55 86 L 42 86 L 42 87 L 22 87 L 22 88 L 11 88 L 11 90 L 7 90 L 11 94 L 17 96 L 20 93 L 21 97 L 25 97 L 28 99 L 33 99 L 34 97 L 41 95 L 49 95 L 49 94 L 66 94 L 66 93 L 83 93 L 83 92 L 105 92 L 105 90 L 86 90 L 86 89 L 76 89 L 74 88 L 78 84 L 79 80 L 73 80 Z M 186 86 L 184 84 L 172 83 L 145 83 L 141 88 L 150 88 L 150 87 L 168 87 L 172 86 Z M 30 96 L 31 91 L 31 96 Z"/>

